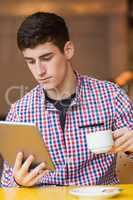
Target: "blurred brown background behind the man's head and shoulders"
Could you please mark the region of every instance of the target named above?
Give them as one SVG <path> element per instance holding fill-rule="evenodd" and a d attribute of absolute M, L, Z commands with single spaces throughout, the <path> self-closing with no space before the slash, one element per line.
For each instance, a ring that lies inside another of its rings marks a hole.
<path fill-rule="evenodd" d="M 36 11 L 62 15 L 76 46 L 81 73 L 117 82 L 132 98 L 132 0 L 0 0 L 0 116 L 35 84 L 16 46 L 25 16 Z"/>

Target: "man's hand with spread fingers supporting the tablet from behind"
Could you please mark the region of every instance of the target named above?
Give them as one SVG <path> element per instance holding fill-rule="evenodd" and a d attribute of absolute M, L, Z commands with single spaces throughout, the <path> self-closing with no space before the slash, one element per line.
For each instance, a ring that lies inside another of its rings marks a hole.
<path fill-rule="evenodd" d="M 30 155 L 23 163 L 23 153 L 19 152 L 17 154 L 13 168 L 13 177 L 16 183 L 19 185 L 24 187 L 34 186 L 43 176 L 47 175 L 49 172 L 49 170 L 46 170 L 45 168 L 45 163 L 41 163 L 29 171 L 33 160 L 34 157 Z"/>

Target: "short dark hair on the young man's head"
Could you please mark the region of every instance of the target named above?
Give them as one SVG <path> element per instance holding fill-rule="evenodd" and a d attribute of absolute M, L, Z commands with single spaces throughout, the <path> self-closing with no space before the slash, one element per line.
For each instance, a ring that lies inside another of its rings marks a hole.
<path fill-rule="evenodd" d="M 67 41 L 69 33 L 66 23 L 62 17 L 54 13 L 36 12 L 28 16 L 17 32 L 17 44 L 20 50 L 53 42 L 63 52 Z"/>

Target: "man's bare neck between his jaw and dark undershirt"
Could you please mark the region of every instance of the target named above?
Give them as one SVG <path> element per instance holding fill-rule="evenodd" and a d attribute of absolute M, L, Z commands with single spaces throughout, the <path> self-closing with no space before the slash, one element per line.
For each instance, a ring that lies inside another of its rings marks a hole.
<path fill-rule="evenodd" d="M 48 90 L 47 95 L 51 99 L 63 100 L 70 97 L 76 90 L 76 75 L 71 66 L 68 67 L 65 79 L 61 84 L 60 88 L 55 88 L 53 90 Z"/>

